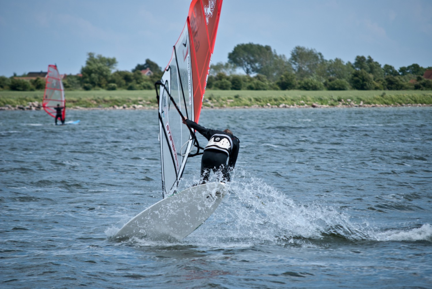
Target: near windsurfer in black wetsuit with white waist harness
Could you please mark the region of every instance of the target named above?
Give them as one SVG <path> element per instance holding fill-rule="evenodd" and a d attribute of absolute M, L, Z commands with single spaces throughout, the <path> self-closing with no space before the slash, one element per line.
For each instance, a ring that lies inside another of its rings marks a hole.
<path fill-rule="evenodd" d="M 188 119 L 186 120 L 186 124 L 209 140 L 201 158 L 202 181 L 208 181 L 210 170 L 222 171 L 222 181 L 230 181 L 229 171 L 232 171 L 237 161 L 240 140 L 232 134 L 225 133 L 222 130 L 212 130 L 202 127 Z M 227 165 L 226 160 L 228 157 L 229 161 Z"/>

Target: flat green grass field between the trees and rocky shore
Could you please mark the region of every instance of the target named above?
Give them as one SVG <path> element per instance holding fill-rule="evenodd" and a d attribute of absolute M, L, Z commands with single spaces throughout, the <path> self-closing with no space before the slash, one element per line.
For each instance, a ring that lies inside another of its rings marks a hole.
<path fill-rule="evenodd" d="M 43 91 L 0 91 L 0 106 L 27 105 L 42 102 Z M 156 107 L 154 90 L 91 90 L 66 91 L 67 106 L 73 108 L 106 108 L 114 105 L 144 105 Z M 364 105 L 432 105 L 432 91 L 421 90 L 348 90 L 348 91 L 303 91 L 303 90 L 212 90 L 208 89 L 203 105 L 206 107 L 265 106 L 270 105 L 319 105 L 336 106 L 347 102 Z"/>

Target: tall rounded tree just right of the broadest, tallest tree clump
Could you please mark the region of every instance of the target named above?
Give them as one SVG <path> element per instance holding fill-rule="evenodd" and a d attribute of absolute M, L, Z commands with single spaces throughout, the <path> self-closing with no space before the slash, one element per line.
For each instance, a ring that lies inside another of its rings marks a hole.
<path fill-rule="evenodd" d="M 324 57 L 315 49 L 296 46 L 291 51 L 289 63 L 297 75 L 297 79 L 313 78 L 318 68 L 324 64 Z"/>

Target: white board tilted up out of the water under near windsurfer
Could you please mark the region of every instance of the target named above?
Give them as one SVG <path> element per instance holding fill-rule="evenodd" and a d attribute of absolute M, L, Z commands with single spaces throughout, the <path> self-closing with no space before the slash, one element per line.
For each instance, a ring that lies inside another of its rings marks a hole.
<path fill-rule="evenodd" d="M 181 240 L 210 217 L 225 194 L 224 183 L 190 187 L 149 206 L 127 222 L 113 238 L 116 240 L 131 237 L 152 241 Z"/>

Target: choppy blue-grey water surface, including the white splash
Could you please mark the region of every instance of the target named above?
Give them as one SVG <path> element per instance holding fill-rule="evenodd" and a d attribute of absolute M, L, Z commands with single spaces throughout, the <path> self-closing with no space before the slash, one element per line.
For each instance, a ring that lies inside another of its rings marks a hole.
<path fill-rule="evenodd" d="M 432 286 L 432 108 L 203 110 L 241 150 L 178 243 L 109 238 L 162 197 L 157 112 L 76 119 L 0 111 L 2 288 Z"/>

